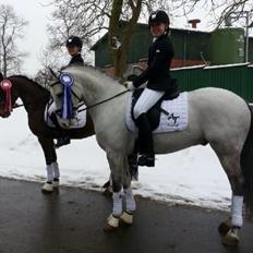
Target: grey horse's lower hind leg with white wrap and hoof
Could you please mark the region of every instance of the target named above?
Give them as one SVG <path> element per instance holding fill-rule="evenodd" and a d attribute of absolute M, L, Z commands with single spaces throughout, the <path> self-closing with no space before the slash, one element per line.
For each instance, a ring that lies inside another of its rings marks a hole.
<path fill-rule="evenodd" d="M 243 207 L 243 174 L 240 166 L 240 154 L 233 152 L 224 155 L 217 154 L 225 172 L 228 176 L 231 190 L 231 217 L 225 222 L 220 224 L 219 231 L 225 233 L 222 243 L 226 245 L 237 245 L 239 242 L 239 230 L 243 225 L 242 207 Z"/>

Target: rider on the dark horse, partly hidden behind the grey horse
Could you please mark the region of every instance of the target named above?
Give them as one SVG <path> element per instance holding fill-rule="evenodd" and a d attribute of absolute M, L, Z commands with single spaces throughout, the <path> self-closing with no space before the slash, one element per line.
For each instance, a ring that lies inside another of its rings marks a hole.
<path fill-rule="evenodd" d="M 82 47 L 83 47 L 83 41 L 81 40 L 80 37 L 77 36 L 71 36 L 67 43 L 65 43 L 65 47 L 68 49 L 68 52 L 71 56 L 71 60 L 68 64 L 69 65 L 84 65 L 84 60 L 81 56 L 81 51 L 82 51 Z M 56 124 L 59 137 L 57 138 L 57 143 L 55 144 L 55 147 L 58 148 L 60 146 L 63 145 L 68 145 L 70 144 L 70 136 L 65 133 L 64 130 L 61 129 L 61 126 L 59 125 L 56 116 L 52 115 L 51 116 L 52 121 Z"/>

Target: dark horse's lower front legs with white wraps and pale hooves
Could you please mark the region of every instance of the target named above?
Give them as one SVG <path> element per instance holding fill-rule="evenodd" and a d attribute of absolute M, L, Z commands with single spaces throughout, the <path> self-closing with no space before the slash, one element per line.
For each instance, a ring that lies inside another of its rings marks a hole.
<path fill-rule="evenodd" d="M 57 162 L 57 153 L 52 138 L 38 136 L 38 141 L 43 147 L 47 164 L 47 182 L 43 185 L 41 191 L 51 193 L 53 189 L 59 188 L 60 171 Z"/>

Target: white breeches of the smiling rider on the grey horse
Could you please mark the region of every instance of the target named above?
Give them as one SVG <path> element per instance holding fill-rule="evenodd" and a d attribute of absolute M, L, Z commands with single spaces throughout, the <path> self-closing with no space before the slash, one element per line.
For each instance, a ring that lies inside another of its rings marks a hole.
<path fill-rule="evenodd" d="M 165 92 L 145 88 L 133 108 L 134 119 L 146 113 L 164 95 Z"/>

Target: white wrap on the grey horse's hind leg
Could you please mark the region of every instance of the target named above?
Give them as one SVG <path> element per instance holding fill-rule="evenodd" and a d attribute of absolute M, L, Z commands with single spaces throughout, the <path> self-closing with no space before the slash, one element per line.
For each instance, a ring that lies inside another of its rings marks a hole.
<path fill-rule="evenodd" d="M 232 226 L 242 227 L 242 207 L 243 207 L 243 196 L 232 196 L 231 216 Z"/>

